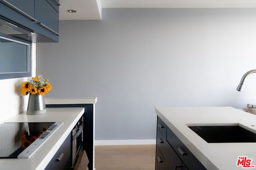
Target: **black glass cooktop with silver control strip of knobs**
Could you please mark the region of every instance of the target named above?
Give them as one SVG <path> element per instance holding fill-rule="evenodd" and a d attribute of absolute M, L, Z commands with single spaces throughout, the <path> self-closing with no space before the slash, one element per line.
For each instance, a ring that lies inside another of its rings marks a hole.
<path fill-rule="evenodd" d="M 62 122 L 0 124 L 0 158 L 29 158 Z"/>

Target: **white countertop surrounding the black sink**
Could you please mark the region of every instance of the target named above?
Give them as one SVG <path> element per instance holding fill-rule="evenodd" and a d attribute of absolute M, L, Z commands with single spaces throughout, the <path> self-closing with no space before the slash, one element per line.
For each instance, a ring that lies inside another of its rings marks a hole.
<path fill-rule="evenodd" d="M 238 156 L 252 159 L 251 165 L 256 167 L 256 143 L 207 143 L 187 127 L 240 123 L 255 131 L 256 115 L 232 107 L 156 107 L 155 111 L 208 170 L 242 170 L 236 166 Z"/>

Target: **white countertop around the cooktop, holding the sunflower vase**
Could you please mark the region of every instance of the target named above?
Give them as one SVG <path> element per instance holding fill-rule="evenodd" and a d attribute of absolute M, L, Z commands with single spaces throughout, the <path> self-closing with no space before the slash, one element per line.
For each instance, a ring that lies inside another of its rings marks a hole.
<path fill-rule="evenodd" d="M 84 107 L 46 108 L 41 115 L 18 114 L 4 122 L 54 122 L 63 124 L 41 145 L 30 158 L 0 159 L 1 170 L 43 170 L 60 148 L 66 137 L 72 131 L 79 118 L 84 113 Z"/>

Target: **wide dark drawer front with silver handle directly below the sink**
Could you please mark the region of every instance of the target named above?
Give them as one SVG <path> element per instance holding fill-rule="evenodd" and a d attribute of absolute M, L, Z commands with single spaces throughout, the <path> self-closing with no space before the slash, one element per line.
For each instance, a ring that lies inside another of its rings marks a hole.
<path fill-rule="evenodd" d="M 189 170 L 206 170 L 201 162 L 188 150 L 178 137 L 167 128 L 167 141 Z"/>

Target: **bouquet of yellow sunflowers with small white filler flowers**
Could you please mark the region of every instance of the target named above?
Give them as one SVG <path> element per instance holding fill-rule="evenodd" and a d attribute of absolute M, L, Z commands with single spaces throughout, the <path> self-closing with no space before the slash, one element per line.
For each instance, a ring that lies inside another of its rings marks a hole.
<path fill-rule="evenodd" d="M 29 93 L 31 94 L 41 94 L 44 96 L 52 89 L 50 83 L 48 83 L 48 77 L 43 79 L 42 75 L 37 77 L 30 77 L 26 82 L 22 82 L 20 91 L 22 95 L 25 96 Z"/>

